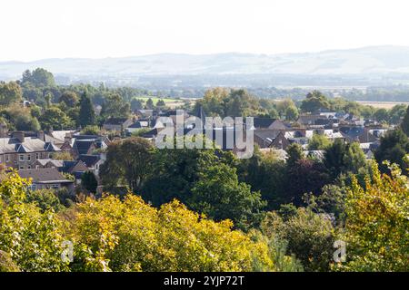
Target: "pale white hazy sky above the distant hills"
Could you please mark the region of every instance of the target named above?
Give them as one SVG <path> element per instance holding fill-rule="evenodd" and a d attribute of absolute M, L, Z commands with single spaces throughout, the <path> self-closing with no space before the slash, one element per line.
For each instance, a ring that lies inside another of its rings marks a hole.
<path fill-rule="evenodd" d="M 0 61 L 409 45 L 407 0 L 2 0 Z"/>

